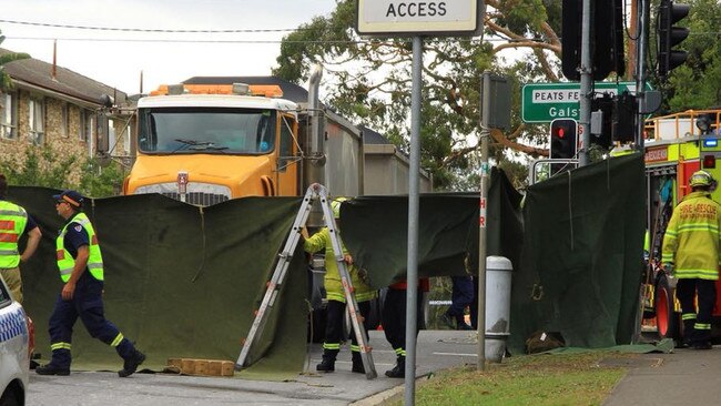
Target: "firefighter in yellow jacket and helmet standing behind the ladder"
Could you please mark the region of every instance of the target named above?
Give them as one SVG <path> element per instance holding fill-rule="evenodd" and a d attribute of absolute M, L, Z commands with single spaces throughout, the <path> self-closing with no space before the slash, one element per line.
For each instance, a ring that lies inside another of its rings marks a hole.
<path fill-rule="evenodd" d="M 341 219 L 341 202 L 345 201 L 338 197 L 331 203 L 333 207 L 333 216 L 336 220 L 336 225 Z M 339 225 L 338 225 L 339 229 Z M 343 243 L 342 243 L 343 244 Z M 343 341 L 343 319 L 345 318 L 345 293 L 341 282 L 341 274 L 338 265 L 335 262 L 335 253 L 333 252 L 333 243 L 331 242 L 331 232 L 327 227 L 323 227 L 319 232 L 315 233 L 304 242 L 304 248 L 307 253 L 316 253 L 319 251 L 325 252 L 325 291 L 328 300 L 326 307 L 326 326 L 325 338 L 323 341 L 323 361 L 316 366 L 319 372 L 335 371 L 335 358 L 341 351 L 341 342 Z M 370 300 L 376 297 L 376 291 L 372 290 L 359 276 L 359 271 L 353 266 L 353 257 L 351 253 L 343 246 L 343 256 L 348 265 L 351 273 L 351 283 L 353 284 L 355 298 L 358 302 L 358 309 L 364 319 L 367 319 L 370 313 Z M 368 339 L 366 335 L 366 341 Z M 365 374 L 363 361 L 360 359 L 360 347 L 355 337 L 355 333 L 351 334 L 351 351 L 353 353 L 353 367 L 351 371 L 354 373 Z"/>

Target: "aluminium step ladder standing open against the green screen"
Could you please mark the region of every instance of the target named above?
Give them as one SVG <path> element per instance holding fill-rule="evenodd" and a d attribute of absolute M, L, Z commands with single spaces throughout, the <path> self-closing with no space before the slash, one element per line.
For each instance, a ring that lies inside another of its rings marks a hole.
<path fill-rule="evenodd" d="M 280 290 L 283 286 L 288 266 L 293 260 L 293 253 L 295 252 L 295 247 L 301 240 L 301 232 L 308 220 L 311 207 L 313 201 L 315 200 L 319 200 L 321 202 L 325 223 L 331 234 L 331 243 L 333 244 L 334 257 L 338 265 L 341 282 L 345 291 L 347 312 L 351 315 L 353 331 L 355 332 L 356 341 L 358 342 L 358 346 L 360 348 L 360 359 L 363 359 L 363 366 L 366 371 L 366 378 L 374 379 L 378 376 L 378 374 L 376 373 L 375 364 L 373 363 L 373 355 L 370 354 L 372 348 L 368 346 L 368 341 L 366 339 L 365 327 L 360 322 L 360 311 L 358 308 L 358 303 L 355 300 L 353 283 L 351 282 L 351 273 L 348 272 L 345 260 L 343 257 L 341 236 L 338 235 L 335 217 L 333 216 L 333 209 L 331 207 L 331 202 L 328 201 L 326 189 L 318 183 L 312 184 L 303 197 L 303 203 L 301 204 L 298 214 L 295 217 L 291 233 L 285 241 L 283 251 L 278 253 L 275 270 L 273 271 L 271 280 L 267 282 L 267 288 L 265 291 L 265 295 L 263 296 L 263 301 L 261 302 L 261 306 L 255 313 L 255 318 L 251 325 L 247 337 L 245 337 L 243 341 L 243 348 L 241 349 L 241 355 L 235 363 L 235 367 L 236 369 L 241 369 L 246 366 L 245 363 L 247 361 L 251 348 L 256 344 L 257 339 L 263 334 L 265 323 L 267 322 L 268 315 L 275 305 Z"/>

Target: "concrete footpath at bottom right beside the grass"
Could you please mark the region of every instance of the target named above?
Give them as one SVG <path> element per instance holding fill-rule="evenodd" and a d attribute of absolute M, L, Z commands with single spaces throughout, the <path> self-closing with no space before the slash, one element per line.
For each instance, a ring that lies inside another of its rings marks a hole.
<path fill-rule="evenodd" d="M 641 354 L 626 366 L 605 406 L 721 404 L 721 346 Z"/>

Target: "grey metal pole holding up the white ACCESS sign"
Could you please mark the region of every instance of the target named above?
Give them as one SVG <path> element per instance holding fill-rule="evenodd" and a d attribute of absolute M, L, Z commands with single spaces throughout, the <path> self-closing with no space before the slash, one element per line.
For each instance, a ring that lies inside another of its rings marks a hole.
<path fill-rule="evenodd" d="M 420 73 L 423 40 L 413 38 L 413 92 L 410 93 L 410 174 L 408 175 L 408 272 L 406 275 L 406 377 L 405 405 L 416 396 L 416 329 L 418 297 L 418 173 L 420 172 Z"/>

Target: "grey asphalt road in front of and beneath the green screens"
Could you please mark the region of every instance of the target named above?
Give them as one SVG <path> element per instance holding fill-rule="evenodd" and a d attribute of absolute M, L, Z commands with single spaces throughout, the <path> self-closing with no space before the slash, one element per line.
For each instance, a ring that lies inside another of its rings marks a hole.
<path fill-rule="evenodd" d="M 311 373 L 293 382 L 262 382 L 222 377 L 135 374 L 119 378 L 110 372 L 77 372 L 70 376 L 31 373 L 27 404 L 43 405 L 347 405 L 403 385 L 384 373 L 395 364 L 395 353 L 383 332 L 369 332 L 378 378 L 351 373 L 351 353 L 343 348 L 336 372 L 316 374 L 321 346 L 311 348 Z M 417 376 L 463 364 L 476 364 L 475 332 L 423 331 L 417 344 Z M 364 400 L 366 399 L 366 400 Z"/>

